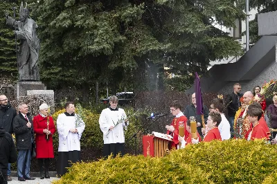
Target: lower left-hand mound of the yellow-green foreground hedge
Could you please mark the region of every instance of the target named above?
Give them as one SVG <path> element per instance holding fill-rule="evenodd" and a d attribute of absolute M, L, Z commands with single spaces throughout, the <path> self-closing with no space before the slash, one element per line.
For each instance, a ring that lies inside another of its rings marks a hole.
<path fill-rule="evenodd" d="M 211 183 L 197 167 L 166 159 L 124 156 L 78 163 L 54 183 Z"/>

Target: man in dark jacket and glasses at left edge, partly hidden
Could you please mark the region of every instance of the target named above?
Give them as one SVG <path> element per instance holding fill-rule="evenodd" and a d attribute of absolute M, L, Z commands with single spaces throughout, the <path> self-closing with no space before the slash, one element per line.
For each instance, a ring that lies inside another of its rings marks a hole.
<path fill-rule="evenodd" d="M 12 108 L 6 95 L 0 95 L 0 127 L 3 127 L 6 132 L 12 134 L 12 121 L 17 116 L 17 111 Z M 8 163 L 8 181 L 12 181 L 10 177 L 10 163 Z"/>

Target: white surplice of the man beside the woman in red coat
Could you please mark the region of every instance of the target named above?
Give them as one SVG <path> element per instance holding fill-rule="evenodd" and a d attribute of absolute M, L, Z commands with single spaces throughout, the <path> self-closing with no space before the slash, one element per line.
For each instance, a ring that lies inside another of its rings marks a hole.
<path fill-rule="evenodd" d="M 80 151 L 80 138 L 85 125 L 83 123 L 82 126 L 76 127 L 78 133 L 70 132 L 70 129 L 75 128 L 75 116 L 66 116 L 64 113 L 61 113 L 57 117 L 57 132 L 59 134 L 58 151 Z"/>

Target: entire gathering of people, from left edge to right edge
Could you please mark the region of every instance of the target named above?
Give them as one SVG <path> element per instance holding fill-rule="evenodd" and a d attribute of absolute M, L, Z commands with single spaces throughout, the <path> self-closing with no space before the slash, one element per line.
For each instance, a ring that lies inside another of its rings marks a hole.
<path fill-rule="evenodd" d="M 241 85 L 236 83 L 225 103 L 222 98 L 215 98 L 209 108 L 203 104 L 203 116 L 197 114 L 195 93 L 192 95 L 192 103 L 184 112 L 178 101 L 172 102 L 170 112 L 175 118 L 171 125 L 166 126 L 167 134 L 172 136 L 170 148 L 180 149 L 188 144 L 230 138 L 264 139 L 276 144 L 277 95 L 273 95 L 273 103 L 267 107 L 264 96 L 260 94 L 260 86 L 256 86 L 253 93 L 247 91 L 242 94 L 240 91 Z M 124 132 L 129 121 L 125 111 L 117 105 L 118 98 L 111 96 L 109 107 L 102 110 L 99 118 L 104 141 L 103 156 L 106 158 L 111 154 L 125 154 Z M 64 108 L 66 111 L 58 116 L 55 127 L 47 104 L 41 104 L 37 116 L 31 118 L 27 104 L 19 104 L 17 113 L 6 95 L 0 95 L 0 166 L 4 183 L 12 180 L 10 163 L 15 162 L 19 181 L 35 180 L 30 176 L 32 157 L 38 159 L 40 178 L 50 177 L 50 158 L 54 158 L 52 136 L 56 130 L 59 136 L 57 176 L 63 176 L 72 163 L 80 161 L 80 138 L 85 127 L 84 121 L 75 113 L 73 102 L 66 102 Z M 228 110 L 227 113 L 225 109 Z M 196 122 L 196 138 L 191 134 L 191 117 Z M 184 132 L 179 132 L 181 124 L 186 127 Z M 15 140 L 12 134 L 15 134 Z"/>

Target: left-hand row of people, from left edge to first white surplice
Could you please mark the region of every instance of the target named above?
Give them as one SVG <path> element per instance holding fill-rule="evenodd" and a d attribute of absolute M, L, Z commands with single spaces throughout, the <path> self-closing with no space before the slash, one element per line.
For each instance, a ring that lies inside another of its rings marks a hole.
<path fill-rule="evenodd" d="M 54 158 L 53 134 L 56 130 L 59 134 L 57 176 L 64 175 L 72 163 L 80 161 L 80 138 L 85 125 L 75 113 L 73 102 L 66 102 L 66 111 L 57 117 L 57 127 L 46 103 L 39 106 L 39 113 L 33 118 L 27 104 L 21 103 L 17 108 L 18 113 L 6 95 L 0 95 L 0 183 L 12 181 L 10 166 L 15 162 L 18 181 L 35 180 L 30 176 L 31 158 L 38 160 L 40 178 L 50 178 L 49 163 Z"/>

